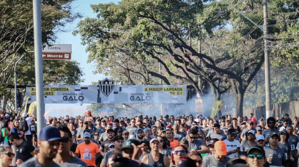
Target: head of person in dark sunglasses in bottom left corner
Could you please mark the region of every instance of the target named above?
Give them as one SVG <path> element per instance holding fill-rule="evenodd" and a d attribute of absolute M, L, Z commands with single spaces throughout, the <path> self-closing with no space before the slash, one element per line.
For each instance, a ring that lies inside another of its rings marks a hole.
<path fill-rule="evenodd" d="M 13 154 L 13 149 L 11 149 L 10 146 L 0 147 L 0 158 L 2 167 L 9 167 L 9 165 L 13 163 L 14 157 L 15 154 Z"/>

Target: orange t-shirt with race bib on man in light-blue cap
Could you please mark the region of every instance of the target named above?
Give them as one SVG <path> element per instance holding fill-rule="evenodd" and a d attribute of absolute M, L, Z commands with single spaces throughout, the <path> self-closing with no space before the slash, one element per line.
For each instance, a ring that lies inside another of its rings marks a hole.
<path fill-rule="evenodd" d="M 94 155 L 100 153 L 100 150 L 94 142 L 90 142 L 89 144 L 83 142 L 77 146 L 76 153 L 81 154 L 81 160 L 83 160 L 87 166 L 96 166 Z"/>

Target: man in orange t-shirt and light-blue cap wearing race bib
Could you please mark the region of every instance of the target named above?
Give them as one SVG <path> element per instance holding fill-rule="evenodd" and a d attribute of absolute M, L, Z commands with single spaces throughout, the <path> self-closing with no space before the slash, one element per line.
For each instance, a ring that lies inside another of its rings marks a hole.
<path fill-rule="evenodd" d="M 75 157 L 79 158 L 79 154 L 81 154 L 81 160 L 89 167 L 95 167 L 95 160 L 101 156 L 97 144 L 90 141 L 89 132 L 84 133 L 84 143 L 77 146 Z"/>

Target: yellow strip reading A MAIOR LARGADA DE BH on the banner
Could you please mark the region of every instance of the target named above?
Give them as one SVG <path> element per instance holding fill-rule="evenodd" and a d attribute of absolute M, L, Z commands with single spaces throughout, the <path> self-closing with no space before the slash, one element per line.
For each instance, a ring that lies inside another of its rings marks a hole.
<path fill-rule="evenodd" d="M 184 96 L 182 87 L 144 87 L 144 92 L 168 92 L 170 96 Z"/>

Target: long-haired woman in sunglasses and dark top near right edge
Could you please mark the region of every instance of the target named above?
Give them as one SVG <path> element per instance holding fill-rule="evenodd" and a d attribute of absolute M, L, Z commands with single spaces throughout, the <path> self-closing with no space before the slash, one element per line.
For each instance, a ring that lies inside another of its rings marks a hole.
<path fill-rule="evenodd" d="M 291 146 L 288 143 L 289 133 L 286 130 L 283 130 L 279 133 L 278 147 L 282 148 L 284 151 L 284 155 L 286 157 L 286 161 L 284 162 L 285 166 L 288 166 L 290 160 L 294 160 L 291 154 Z"/>

